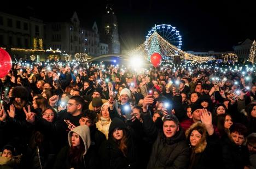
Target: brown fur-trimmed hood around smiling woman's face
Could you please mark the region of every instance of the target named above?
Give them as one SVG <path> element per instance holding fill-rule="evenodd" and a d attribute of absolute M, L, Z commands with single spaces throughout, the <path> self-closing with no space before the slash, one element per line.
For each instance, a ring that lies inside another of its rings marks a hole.
<path fill-rule="evenodd" d="M 190 140 L 189 140 L 189 134 L 191 134 L 191 132 L 197 127 L 200 126 L 201 128 L 203 128 L 203 134 L 202 134 L 202 138 L 199 141 L 199 143 L 197 143 L 197 145 L 195 146 L 195 153 L 202 153 L 206 146 L 207 146 L 207 141 L 206 141 L 206 137 L 207 137 L 207 130 L 206 130 L 206 126 L 200 122 L 194 123 L 190 126 L 190 128 L 185 132 L 185 135 L 187 137 L 187 141 L 190 144 Z"/>

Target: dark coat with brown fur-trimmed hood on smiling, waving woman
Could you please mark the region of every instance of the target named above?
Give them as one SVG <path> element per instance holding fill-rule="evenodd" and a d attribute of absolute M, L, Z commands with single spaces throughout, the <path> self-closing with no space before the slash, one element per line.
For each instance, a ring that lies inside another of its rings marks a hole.
<path fill-rule="evenodd" d="M 195 129 L 195 127 L 201 126 L 203 130 L 202 137 L 195 147 L 192 147 L 190 144 L 190 133 Z M 221 152 L 219 138 L 216 134 L 209 136 L 204 124 L 194 123 L 186 131 L 187 141 L 190 146 L 190 162 L 189 168 L 202 169 L 202 168 L 220 168 L 219 154 Z"/>

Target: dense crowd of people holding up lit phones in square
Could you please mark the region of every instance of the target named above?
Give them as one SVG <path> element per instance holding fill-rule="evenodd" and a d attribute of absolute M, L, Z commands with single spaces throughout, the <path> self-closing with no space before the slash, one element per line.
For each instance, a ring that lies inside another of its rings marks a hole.
<path fill-rule="evenodd" d="M 0 168 L 256 168 L 254 65 L 13 64 Z"/>

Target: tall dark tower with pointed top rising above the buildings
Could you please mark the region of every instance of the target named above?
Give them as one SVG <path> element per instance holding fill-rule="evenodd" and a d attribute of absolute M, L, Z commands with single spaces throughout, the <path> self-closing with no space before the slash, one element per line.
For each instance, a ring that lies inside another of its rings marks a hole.
<path fill-rule="evenodd" d="M 109 53 L 120 54 L 117 16 L 111 4 L 107 4 L 105 14 L 102 16 L 101 43 L 108 44 Z"/>

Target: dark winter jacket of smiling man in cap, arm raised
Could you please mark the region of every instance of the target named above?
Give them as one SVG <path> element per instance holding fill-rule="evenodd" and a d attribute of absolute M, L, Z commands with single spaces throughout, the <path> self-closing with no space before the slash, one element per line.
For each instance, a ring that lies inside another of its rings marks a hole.
<path fill-rule="evenodd" d="M 166 138 L 162 130 L 157 130 L 149 113 L 143 116 L 144 131 L 155 140 L 148 162 L 151 168 L 187 168 L 189 147 L 182 128 L 171 138 Z"/>

